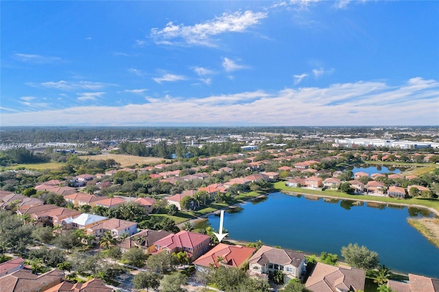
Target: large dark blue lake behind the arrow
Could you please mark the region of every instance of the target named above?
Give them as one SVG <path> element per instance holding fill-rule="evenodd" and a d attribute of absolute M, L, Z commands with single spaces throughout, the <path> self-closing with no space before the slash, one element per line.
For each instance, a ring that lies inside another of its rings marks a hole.
<path fill-rule="evenodd" d="M 352 205 L 351 201 L 324 202 L 283 193 L 268 195 L 265 202 L 242 204 L 241 212 L 224 214 L 230 239 L 281 245 L 313 254 L 340 255 L 349 243 L 378 252 L 381 264 L 394 271 L 439 278 L 439 249 L 407 223 L 407 217 L 431 216 L 416 208 L 375 208 Z M 219 227 L 219 217 L 209 217 Z"/>

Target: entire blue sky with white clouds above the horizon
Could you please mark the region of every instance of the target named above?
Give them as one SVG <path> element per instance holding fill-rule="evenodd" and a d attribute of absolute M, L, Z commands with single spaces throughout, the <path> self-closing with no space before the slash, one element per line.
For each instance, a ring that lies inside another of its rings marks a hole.
<path fill-rule="evenodd" d="M 1 1 L 6 125 L 439 125 L 438 1 Z"/>

